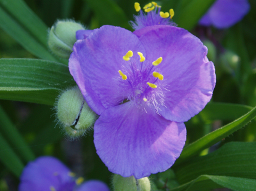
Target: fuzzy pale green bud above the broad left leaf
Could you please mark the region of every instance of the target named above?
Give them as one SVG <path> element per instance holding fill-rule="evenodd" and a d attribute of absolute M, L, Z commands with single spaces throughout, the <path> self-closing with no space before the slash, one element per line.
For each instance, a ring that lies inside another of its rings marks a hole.
<path fill-rule="evenodd" d="M 48 45 L 52 53 L 61 58 L 69 58 L 76 42 L 76 31 L 85 29 L 73 20 L 57 21 L 49 31 Z"/>

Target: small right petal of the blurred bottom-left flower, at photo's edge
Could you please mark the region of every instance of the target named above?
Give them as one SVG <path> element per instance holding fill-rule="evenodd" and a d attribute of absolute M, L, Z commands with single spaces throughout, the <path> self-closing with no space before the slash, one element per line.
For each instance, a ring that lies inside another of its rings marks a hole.
<path fill-rule="evenodd" d="M 110 191 L 104 182 L 91 180 L 81 184 L 76 191 Z"/>

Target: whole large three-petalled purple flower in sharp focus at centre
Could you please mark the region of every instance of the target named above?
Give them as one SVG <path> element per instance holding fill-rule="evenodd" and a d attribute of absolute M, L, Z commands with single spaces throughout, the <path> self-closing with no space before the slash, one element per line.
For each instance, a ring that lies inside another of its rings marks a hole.
<path fill-rule="evenodd" d="M 112 173 L 137 179 L 170 168 L 186 141 L 183 122 L 212 98 L 207 48 L 175 26 L 102 26 L 78 40 L 70 73 L 88 105 L 97 154 Z"/>

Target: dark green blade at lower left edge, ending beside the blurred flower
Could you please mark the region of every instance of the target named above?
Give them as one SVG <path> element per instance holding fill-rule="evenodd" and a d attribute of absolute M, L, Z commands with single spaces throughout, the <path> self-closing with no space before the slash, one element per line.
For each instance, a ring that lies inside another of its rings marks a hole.
<path fill-rule="evenodd" d="M 0 133 L 0 161 L 12 172 L 19 177 L 24 167 L 20 158 L 15 154 L 9 144 Z"/>

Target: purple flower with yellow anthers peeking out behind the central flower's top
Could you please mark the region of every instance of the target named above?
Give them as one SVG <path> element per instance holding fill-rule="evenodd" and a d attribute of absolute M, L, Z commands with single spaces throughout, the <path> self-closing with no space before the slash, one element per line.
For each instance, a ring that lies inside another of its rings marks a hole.
<path fill-rule="evenodd" d="M 149 4 L 146 4 L 146 6 L 143 7 L 144 12 L 146 12 L 145 14 L 142 12 L 141 6 L 139 6 L 138 2 L 135 2 L 134 8 L 139 12 L 139 15 L 134 15 L 135 21 L 130 21 L 134 30 L 154 25 L 176 26 L 176 23 L 171 20 L 174 16 L 173 9 L 164 13 L 161 11 L 161 6 L 154 1 L 149 2 Z"/>

